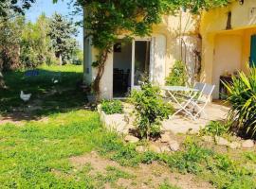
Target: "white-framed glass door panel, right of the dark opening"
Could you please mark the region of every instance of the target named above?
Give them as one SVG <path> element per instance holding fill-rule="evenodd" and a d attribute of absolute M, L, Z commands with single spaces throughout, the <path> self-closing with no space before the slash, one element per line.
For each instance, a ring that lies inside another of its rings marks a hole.
<path fill-rule="evenodd" d="M 132 88 L 139 88 L 145 77 L 150 79 L 151 41 L 134 41 L 132 54 Z"/>

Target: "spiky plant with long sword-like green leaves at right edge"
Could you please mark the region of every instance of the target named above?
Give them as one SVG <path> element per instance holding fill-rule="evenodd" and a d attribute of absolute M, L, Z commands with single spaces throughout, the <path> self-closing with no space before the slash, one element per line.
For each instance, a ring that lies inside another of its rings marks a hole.
<path fill-rule="evenodd" d="M 231 105 L 229 120 L 234 126 L 250 136 L 256 134 L 256 68 L 249 68 L 249 74 L 239 73 L 232 77 L 233 83 L 225 83 L 228 91 L 228 102 Z"/>

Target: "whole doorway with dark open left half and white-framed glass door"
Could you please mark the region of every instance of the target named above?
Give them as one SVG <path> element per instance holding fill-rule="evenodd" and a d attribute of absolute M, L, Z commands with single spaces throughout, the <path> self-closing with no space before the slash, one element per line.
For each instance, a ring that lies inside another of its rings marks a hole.
<path fill-rule="evenodd" d="M 151 41 L 119 40 L 113 51 L 113 97 L 126 97 L 131 89 L 139 88 L 144 77 L 150 78 Z"/>

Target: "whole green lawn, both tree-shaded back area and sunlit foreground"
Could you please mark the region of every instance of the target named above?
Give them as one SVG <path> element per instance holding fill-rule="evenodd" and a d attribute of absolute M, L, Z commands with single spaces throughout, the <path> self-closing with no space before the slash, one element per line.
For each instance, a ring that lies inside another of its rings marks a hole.
<path fill-rule="evenodd" d="M 124 180 L 123 183 L 130 180 L 133 188 L 141 188 L 141 183 L 146 188 L 179 188 L 169 180 L 156 184 L 151 178 L 140 178 L 137 167 L 142 164 L 151 170 L 154 162 L 164 168 L 148 173 L 149 177 L 180 174 L 180 177 L 188 175 L 216 188 L 255 189 L 255 151 L 237 150 L 235 155 L 229 150 L 219 152 L 214 147 L 203 146 L 198 136 L 188 136 L 179 152 L 138 153 L 136 145 L 127 145 L 121 136 L 104 129 L 97 112 L 83 109 L 85 94 L 76 86 L 82 79 L 81 66 L 40 70 L 61 72 L 62 81 L 55 85 L 51 78 L 26 78 L 24 72 L 5 75 L 9 90 L 0 94 L 3 117 L 15 116 L 14 112 L 29 114 L 27 106 L 42 109 L 31 111 L 29 115 L 35 118 L 30 117 L 22 125 L 0 125 L 1 189 L 104 188 L 107 184 L 112 188 L 126 188 L 119 180 Z M 19 99 L 20 90 L 32 93 L 31 102 Z M 38 100 L 41 103 L 36 104 Z M 101 157 L 97 163 L 105 165 L 103 171 L 94 171 L 90 163 L 76 166 L 70 161 L 92 151 Z"/>

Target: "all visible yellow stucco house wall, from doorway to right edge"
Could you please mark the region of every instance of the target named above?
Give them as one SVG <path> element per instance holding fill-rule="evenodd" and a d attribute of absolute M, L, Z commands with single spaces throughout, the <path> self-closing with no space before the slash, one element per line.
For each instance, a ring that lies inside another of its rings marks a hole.
<path fill-rule="evenodd" d="M 227 30 L 228 12 L 231 12 L 231 29 Z M 190 13 L 179 12 L 175 16 L 163 16 L 162 23 L 154 26 L 154 36 L 164 36 L 166 40 L 166 53 L 164 62 L 167 77 L 175 60 L 181 59 L 182 38 L 193 49 L 200 48 L 202 70 L 200 79 L 204 82 L 217 85 L 214 97 L 218 97 L 219 76 L 227 70 L 247 72 L 247 60 L 250 55 L 250 37 L 256 34 L 256 0 L 245 0 L 244 5 L 232 1 L 226 8 L 212 9 L 203 12 L 201 17 L 192 16 Z M 199 44 L 201 43 L 201 44 Z M 92 49 L 92 59 L 97 52 Z M 193 54 L 188 60 L 193 60 Z M 104 96 L 112 96 L 113 76 L 112 56 L 109 56 L 105 73 L 101 81 L 101 92 Z M 95 76 L 95 70 L 91 78 Z"/>

